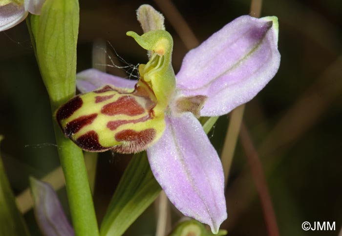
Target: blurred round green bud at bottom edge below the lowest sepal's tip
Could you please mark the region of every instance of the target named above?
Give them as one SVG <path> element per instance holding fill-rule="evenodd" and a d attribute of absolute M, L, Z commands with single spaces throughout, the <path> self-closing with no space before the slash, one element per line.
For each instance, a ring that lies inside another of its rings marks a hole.
<path fill-rule="evenodd" d="M 219 230 L 216 235 L 208 231 L 206 227 L 197 220 L 191 219 L 180 222 L 169 236 L 224 236 L 226 230 Z"/>

